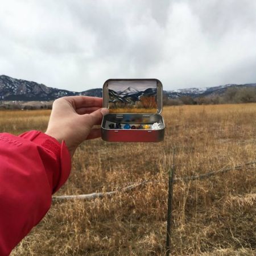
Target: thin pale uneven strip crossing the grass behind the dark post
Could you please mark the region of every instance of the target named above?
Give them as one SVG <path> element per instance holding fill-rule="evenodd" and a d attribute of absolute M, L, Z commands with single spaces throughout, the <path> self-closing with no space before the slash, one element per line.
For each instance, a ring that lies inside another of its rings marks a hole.
<path fill-rule="evenodd" d="M 177 182 L 181 182 L 181 181 L 194 181 L 194 180 L 203 180 L 203 179 L 207 179 L 211 176 L 217 175 L 217 174 L 223 174 L 225 172 L 229 172 L 229 171 L 234 171 L 234 170 L 241 170 L 242 168 L 255 168 L 256 167 L 256 160 L 247 162 L 247 163 L 243 163 L 234 167 L 229 167 L 229 168 L 225 168 L 222 167 L 221 169 L 217 170 L 217 171 L 210 171 L 207 172 L 205 174 L 201 174 L 201 175 L 192 175 L 192 176 L 185 176 L 185 177 L 176 177 L 174 179 L 174 183 Z M 119 192 L 128 192 L 131 190 L 134 190 L 136 188 L 139 187 L 143 187 L 143 185 L 146 185 L 148 183 L 160 183 L 160 182 L 167 182 L 166 180 L 155 180 L 155 179 L 148 179 L 148 180 L 143 180 L 139 183 L 133 183 L 131 185 L 128 185 L 126 187 L 123 188 L 118 188 L 114 191 L 109 191 L 109 192 L 95 192 L 95 193 L 90 193 L 90 194 L 84 194 L 84 195 L 63 195 L 63 196 L 53 196 L 52 199 L 53 201 L 67 201 L 67 200 L 75 200 L 75 199 L 82 199 L 82 200 L 92 200 L 92 199 L 96 199 L 96 198 L 102 198 L 105 196 L 113 196 Z"/>

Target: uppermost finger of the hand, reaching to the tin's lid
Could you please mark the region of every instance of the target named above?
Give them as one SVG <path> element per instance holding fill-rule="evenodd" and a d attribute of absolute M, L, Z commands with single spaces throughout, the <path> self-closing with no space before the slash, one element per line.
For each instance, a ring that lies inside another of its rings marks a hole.
<path fill-rule="evenodd" d="M 71 102 L 74 108 L 99 107 L 102 108 L 102 98 L 89 96 L 67 96 L 66 100 Z"/>

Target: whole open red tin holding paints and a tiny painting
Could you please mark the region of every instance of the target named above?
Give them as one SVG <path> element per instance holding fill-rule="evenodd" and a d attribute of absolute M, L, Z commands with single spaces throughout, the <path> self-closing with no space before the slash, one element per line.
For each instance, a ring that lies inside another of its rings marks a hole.
<path fill-rule="evenodd" d="M 112 142 L 164 139 L 163 85 L 157 79 L 109 79 L 103 85 L 101 137 Z"/>

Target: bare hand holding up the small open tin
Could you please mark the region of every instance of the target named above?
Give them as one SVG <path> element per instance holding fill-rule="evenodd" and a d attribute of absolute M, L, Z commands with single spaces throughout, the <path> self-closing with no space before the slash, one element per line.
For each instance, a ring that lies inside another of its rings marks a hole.
<path fill-rule="evenodd" d="M 53 102 L 46 134 L 65 141 L 71 157 L 79 144 L 85 139 L 101 136 L 100 125 L 102 117 L 109 110 L 102 107 L 102 98 L 88 96 L 70 96 L 58 98 Z"/>

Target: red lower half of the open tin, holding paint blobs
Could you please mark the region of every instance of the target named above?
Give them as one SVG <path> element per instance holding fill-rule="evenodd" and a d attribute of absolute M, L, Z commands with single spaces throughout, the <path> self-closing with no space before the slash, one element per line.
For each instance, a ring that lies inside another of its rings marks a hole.
<path fill-rule="evenodd" d="M 152 125 L 159 123 L 161 129 L 110 129 L 110 123 Z M 107 114 L 101 123 L 101 137 L 109 142 L 160 142 L 164 139 L 164 121 L 160 114 Z"/>

